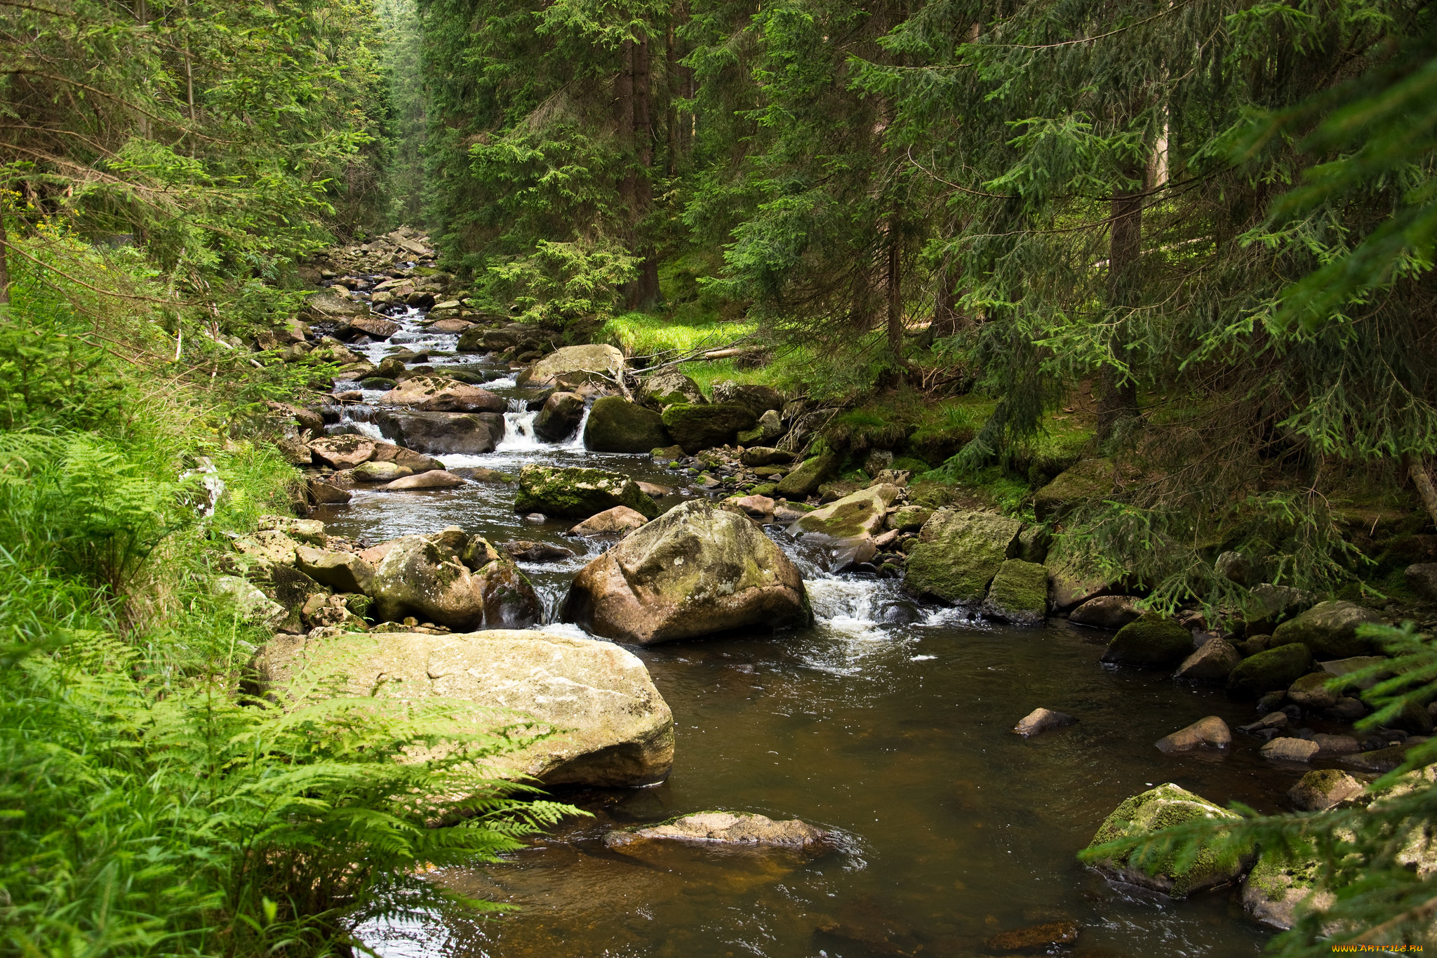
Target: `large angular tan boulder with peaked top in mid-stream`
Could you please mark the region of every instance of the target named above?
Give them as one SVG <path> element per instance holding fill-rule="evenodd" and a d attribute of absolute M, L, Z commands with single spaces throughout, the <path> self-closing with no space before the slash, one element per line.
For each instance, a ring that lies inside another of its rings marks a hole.
<path fill-rule="evenodd" d="M 753 520 L 707 500 L 671 508 L 585 566 L 562 615 L 634 645 L 813 619 L 783 550 Z"/>

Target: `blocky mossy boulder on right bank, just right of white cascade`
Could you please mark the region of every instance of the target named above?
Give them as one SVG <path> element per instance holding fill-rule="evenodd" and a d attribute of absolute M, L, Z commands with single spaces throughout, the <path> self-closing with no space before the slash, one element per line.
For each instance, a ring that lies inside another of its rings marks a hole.
<path fill-rule="evenodd" d="M 977 603 L 1013 557 L 1023 524 L 996 513 L 938 510 L 908 552 L 907 586 L 944 602 Z"/>

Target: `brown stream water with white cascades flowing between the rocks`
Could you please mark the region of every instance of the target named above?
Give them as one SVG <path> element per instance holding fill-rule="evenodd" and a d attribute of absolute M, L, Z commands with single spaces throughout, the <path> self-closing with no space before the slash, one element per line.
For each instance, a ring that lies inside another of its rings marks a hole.
<path fill-rule="evenodd" d="M 420 312 L 399 319 L 405 330 L 394 343 L 454 349 L 454 336 L 418 327 Z M 375 361 L 392 349 L 366 348 Z M 582 464 L 675 484 L 648 457 L 586 452 L 578 438 L 536 440 L 507 369 L 463 355 L 430 362 L 502 373 L 486 388 L 514 399 L 500 447 L 441 457 L 448 467 Z M 333 428 L 372 432 L 366 417 L 355 408 Z M 572 549 L 573 559 L 522 566 L 552 619 L 569 580 L 605 546 L 565 537 L 570 523 L 532 523 L 512 504 L 513 488 L 493 484 L 358 491 L 316 517 L 369 541 L 457 524 L 493 541 Z M 992 625 L 914 603 L 892 580 L 829 576 L 780 530 L 770 533 L 805 569 L 815 628 L 634 649 L 674 712 L 670 778 L 560 793 L 593 817 L 502 863 L 428 876 L 519 911 L 484 918 L 456 905 L 422 919 L 371 922 L 361 929 L 371 947 L 391 958 L 983 955 L 984 939 L 999 931 L 1072 919 L 1083 929 L 1076 951 L 1062 954 L 1262 951 L 1269 934 L 1229 890 L 1170 902 L 1114 888 L 1075 859 L 1122 799 L 1163 781 L 1224 804 L 1280 810 L 1276 796 L 1300 770 L 1273 768 L 1253 740 L 1239 735 L 1224 755 L 1152 747 L 1204 715 L 1250 721 L 1250 705 L 1163 674 L 1101 665 L 1105 632 L 1061 619 L 1036 629 Z M 1012 734 L 1039 705 L 1079 722 L 1033 740 Z M 602 845 L 615 823 L 707 809 L 799 817 L 836 829 L 842 840 L 816 857 L 694 847 L 632 857 Z"/>

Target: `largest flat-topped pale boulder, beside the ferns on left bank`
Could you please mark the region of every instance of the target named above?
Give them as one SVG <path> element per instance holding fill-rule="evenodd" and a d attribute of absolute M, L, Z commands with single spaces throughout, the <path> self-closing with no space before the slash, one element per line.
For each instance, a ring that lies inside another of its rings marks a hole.
<path fill-rule="evenodd" d="M 443 698 L 474 704 L 460 720 L 476 733 L 517 721 L 519 740 L 535 741 L 491 760 L 506 778 L 627 789 L 662 781 L 674 763 L 668 704 L 644 664 L 612 642 L 512 631 L 279 636 L 254 665 L 280 695 L 308 669 L 339 676 L 339 694 L 371 708 Z"/>

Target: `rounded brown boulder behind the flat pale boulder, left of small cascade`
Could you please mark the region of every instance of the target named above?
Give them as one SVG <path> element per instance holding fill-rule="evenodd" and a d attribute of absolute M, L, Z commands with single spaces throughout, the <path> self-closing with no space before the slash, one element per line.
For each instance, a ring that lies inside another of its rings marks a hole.
<path fill-rule="evenodd" d="M 450 629 L 523 629 L 543 613 L 509 554 L 457 526 L 388 546 L 369 586 L 379 619 L 412 615 Z"/>

